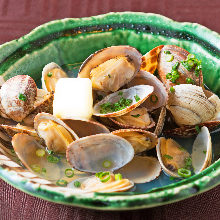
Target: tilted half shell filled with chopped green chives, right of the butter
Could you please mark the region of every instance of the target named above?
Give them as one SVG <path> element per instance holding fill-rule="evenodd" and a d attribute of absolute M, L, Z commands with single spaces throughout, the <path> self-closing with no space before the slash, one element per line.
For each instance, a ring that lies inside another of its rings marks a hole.
<path fill-rule="evenodd" d="M 153 86 L 138 85 L 128 89 L 122 89 L 106 96 L 103 100 L 95 104 L 93 114 L 99 117 L 117 117 L 124 115 L 141 105 L 154 91 Z M 120 95 L 122 94 L 122 95 Z M 116 103 L 121 98 L 131 100 L 131 105 L 115 112 L 101 113 L 101 107 L 105 103 Z M 138 99 L 136 98 L 138 97 Z"/>

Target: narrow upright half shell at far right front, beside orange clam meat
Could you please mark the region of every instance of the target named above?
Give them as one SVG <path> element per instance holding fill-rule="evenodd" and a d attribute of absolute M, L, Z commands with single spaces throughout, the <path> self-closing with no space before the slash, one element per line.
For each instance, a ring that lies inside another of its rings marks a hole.
<path fill-rule="evenodd" d="M 205 153 L 204 153 L 205 152 Z M 192 147 L 192 165 L 194 172 L 200 173 L 211 164 L 212 141 L 209 130 L 203 126 Z"/>

